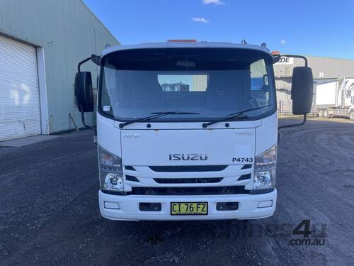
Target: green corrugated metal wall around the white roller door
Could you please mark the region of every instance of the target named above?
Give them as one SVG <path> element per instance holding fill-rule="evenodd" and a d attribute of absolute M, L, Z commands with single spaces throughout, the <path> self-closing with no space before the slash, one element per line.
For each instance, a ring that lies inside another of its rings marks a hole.
<path fill-rule="evenodd" d="M 119 45 L 113 35 L 80 0 L 0 0 L 1 33 L 44 48 L 50 133 L 74 128 L 69 113 L 81 125 L 73 91 L 77 62 L 107 43 Z M 98 69 L 88 63 L 84 70 L 96 84 Z"/>

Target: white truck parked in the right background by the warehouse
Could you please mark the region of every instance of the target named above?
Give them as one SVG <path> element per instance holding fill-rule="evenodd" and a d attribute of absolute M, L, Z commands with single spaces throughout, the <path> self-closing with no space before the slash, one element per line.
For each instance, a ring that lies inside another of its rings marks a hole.
<path fill-rule="evenodd" d="M 315 106 L 319 117 L 345 116 L 354 120 L 354 78 L 317 84 Z"/>

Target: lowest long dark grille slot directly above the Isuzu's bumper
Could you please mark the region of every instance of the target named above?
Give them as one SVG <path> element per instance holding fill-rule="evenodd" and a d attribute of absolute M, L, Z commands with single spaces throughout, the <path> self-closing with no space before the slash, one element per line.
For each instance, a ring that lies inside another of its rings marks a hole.
<path fill-rule="evenodd" d="M 244 186 L 231 187 L 132 187 L 132 195 L 224 195 L 249 194 Z"/>

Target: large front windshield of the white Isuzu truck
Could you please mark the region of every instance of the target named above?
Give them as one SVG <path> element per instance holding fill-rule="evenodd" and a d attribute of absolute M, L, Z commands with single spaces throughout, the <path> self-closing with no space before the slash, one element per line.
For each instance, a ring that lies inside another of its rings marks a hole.
<path fill-rule="evenodd" d="M 122 50 L 104 58 L 99 111 L 119 121 L 183 112 L 154 121 L 205 121 L 254 109 L 275 112 L 272 57 L 247 49 Z M 257 109 L 265 106 L 265 108 Z"/>

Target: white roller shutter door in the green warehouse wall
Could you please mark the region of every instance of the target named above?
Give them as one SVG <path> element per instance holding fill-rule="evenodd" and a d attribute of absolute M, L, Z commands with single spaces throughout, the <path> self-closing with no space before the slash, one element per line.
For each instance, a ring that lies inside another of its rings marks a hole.
<path fill-rule="evenodd" d="M 0 141 L 40 133 L 36 49 L 0 35 Z"/>

